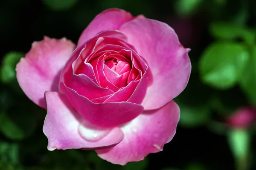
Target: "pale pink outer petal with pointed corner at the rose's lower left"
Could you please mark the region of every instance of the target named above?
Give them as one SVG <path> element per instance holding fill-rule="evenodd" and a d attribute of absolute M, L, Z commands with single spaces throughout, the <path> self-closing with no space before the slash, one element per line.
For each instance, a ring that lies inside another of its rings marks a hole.
<path fill-rule="evenodd" d="M 64 95 L 58 92 L 46 92 L 47 116 L 43 131 L 48 138 L 48 150 L 83 148 L 87 150 L 108 148 L 118 144 L 124 138 L 116 127 L 97 141 L 85 140 L 79 134 L 79 125 L 83 120 L 69 104 Z M 88 131 L 88 129 L 86 130 Z"/>

